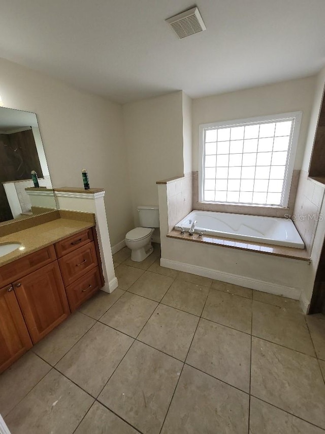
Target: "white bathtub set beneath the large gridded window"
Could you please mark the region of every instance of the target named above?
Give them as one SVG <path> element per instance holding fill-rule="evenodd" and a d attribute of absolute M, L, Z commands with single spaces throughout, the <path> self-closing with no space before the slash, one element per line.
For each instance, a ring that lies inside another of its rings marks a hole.
<path fill-rule="evenodd" d="M 204 230 L 205 235 L 298 247 L 299 249 L 305 247 L 294 223 L 289 219 L 192 211 L 177 223 L 175 229 L 181 230 L 183 227 L 188 231 L 195 220 L 197 220 L 195 232 Z"/>

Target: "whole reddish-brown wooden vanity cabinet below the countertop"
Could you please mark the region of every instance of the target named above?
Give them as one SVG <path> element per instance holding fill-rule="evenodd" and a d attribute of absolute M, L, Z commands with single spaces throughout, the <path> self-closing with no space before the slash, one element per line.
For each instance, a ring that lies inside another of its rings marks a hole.
<path fill-rule="evenodd" d="M 0 267 L 0 373 L 103 285 L 94 228 Z"/>

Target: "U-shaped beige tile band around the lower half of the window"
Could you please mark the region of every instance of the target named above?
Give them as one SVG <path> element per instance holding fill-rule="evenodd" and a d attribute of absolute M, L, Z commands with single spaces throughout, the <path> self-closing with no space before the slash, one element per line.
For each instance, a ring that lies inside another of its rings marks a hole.
<path fill-rule="evenodd" d="M 254 216 L 266 217 L 285 217 L 285 214 L 293 214 L 298 182 L 300 177 L 300 170 L 294 170 L 293 178 L 291 181 L 289 201 L 287 208 L 281 207 L 264 207 L 263 205 L 234 205 L 234 204 L 208 204 L 199 202 L 199 172 L 192 172 L 192 192 L 193 192 L 193 210 L 199 211 L 216 211 L 219 213 L 235 213 L 235 214 L 249 214 Z"/>

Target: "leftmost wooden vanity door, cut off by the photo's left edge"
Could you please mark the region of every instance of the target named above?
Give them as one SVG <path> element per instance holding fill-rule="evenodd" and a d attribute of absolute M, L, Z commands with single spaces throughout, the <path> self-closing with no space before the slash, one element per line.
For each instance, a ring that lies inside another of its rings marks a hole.
<path fill-rule="evenodd" d="M 32 346 L 12 286 L 0 289 L 0 373 Z"/>

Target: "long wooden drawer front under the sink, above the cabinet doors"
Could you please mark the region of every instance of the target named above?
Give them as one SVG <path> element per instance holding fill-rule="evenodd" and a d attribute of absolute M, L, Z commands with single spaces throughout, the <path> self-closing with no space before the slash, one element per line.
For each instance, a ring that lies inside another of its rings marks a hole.
<path fill-rule="evenodd" d="M 56 259 L 53 246 L 45 247 L 37 252 L 30 253 L 16 261 L 0 267 L 0 286 L 5 286 L 20 277 L 25 276 Z"/>

